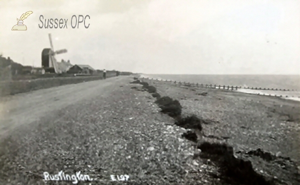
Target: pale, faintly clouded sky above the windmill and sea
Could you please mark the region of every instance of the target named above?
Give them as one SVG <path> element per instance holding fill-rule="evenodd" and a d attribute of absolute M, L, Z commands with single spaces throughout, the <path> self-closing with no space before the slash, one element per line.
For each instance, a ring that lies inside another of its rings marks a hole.
<path fill-rule="evenodd" d="M 26 11 L 27 30 L 12 31 Z M 300 74 L 300 0 L 1 0 L 0 12 L 0 54 L 23 65 L 41 66 L 51 33 L 67 49 L 57 61 L 95 69 Z M 40 15 L 67 28 L 39 28 Z"/>

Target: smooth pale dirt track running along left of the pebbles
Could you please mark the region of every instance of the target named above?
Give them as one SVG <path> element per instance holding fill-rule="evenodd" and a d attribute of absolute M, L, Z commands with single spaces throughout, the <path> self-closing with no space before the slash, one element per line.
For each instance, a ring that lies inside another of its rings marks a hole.
<path fill-rule="evenodd" d="M 113 84 L 122 84 L 123 78 L 107 78 L 4 97 L 0 102 L 0 137 L 10 133 L 16 126 L 37 121 L 51 111 L 99 94 L 108 96 Z"/>

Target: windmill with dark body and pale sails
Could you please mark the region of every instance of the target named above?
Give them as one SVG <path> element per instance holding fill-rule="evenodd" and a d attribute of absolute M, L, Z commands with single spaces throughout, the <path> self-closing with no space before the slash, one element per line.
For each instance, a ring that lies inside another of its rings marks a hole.
<path fill-rule="evenodd" d="M 49 41 L 50 41 L 51 48 L 44 48 L 41 52 L 41 66 L 44 68 L 45 72 L 58 73 L 58 74 L 65 72 L 59 68 L 59 65 L 55 59 L 55 55 L 61 54 L 61 53 L 66 53 L 67 50 L 60 49 L 60 50 L 54 51 L 51 33 L 49 33 Z"/>

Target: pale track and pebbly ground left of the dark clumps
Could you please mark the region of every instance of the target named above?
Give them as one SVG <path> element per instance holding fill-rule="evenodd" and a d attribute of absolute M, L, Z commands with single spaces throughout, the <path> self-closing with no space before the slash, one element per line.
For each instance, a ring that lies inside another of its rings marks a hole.
<path fill-rule="evenodd" d="M 90 185 L 200 184 L 188 179 L 197 164 L 192 143 L 181 139 L 186 131 L 131 81 L 119 76 L 1 100 L 0 185 L 43 185 L 44 172 L 60 171 L 89 175 Z"/>

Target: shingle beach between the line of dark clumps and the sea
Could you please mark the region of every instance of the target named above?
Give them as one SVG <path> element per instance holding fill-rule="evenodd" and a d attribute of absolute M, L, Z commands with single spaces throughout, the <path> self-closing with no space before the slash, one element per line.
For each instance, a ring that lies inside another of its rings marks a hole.
<path fill-rule="evenodd" d="M 245 93 L 237 95 L 235 94 L 236 91 L 178 87 L 171 83 L 164 83 L 163 81 L 147 79 L 143 79 L 142 81 L 155 86 L 161 96 L 168 96 L 179 100 L 183 107 L 183 117 L 187 116 L 186 118 L 188 118 L 190 115 L 193 115 L 195 119 L 199 119 L 200 122 L 204 123 L 204 125 L 201 124 L 203 130 L 200 129 L 197 131 L 197 129 L 192 129 L 192 132 L 185 133 L 186 139 L 189 138 L 191 141 L 198 143 L 197 146 L 202 150 L 200 156 L 202 153 L 213 153 L 212 151 L 219 150 L 215 147 L 230 148 L 232 146 L 231 151 L 233 153 L 228 151 L 228 153 L 225 152 L 223 154 L 232 155 L 229 157 L 230 159 L 227 159 L 232 161 L 225 160 L 227 163 L 219 165 L 249 163 L 248 167 L 242 167 L 249 168 L 248 170 L 243 169 L 245 170 L 245 174 L 236 174 L 238 176 L 236 177 L 237 179 L 252 176 L 249 179 L 249 181 L 252 181 L 257 176 L 257 178 L 262 178 L 259 180 L 260 183 L 258 183 L 261 185 L 281 185 L 284 182 L 292 182 L 292 184 L 300 182 L 300 148 L 298 147 L 299 138 L 297 135 L 300 130 L 298 126 L 300 123 L 298 117 L 300 104 L 298 102 L 265 98 L 252 94 L 246 95 Z M 258 101 L 253 100 L 255 98 Z M 270 103 L 270 99 L 274 100 L 273 103 Z M 195 139 L 194 137 L 199 139 Z M 201 146 L 203 142 L 205 147 Z M 222 146 L 223 144 L 224 146 Z M 227 158 L 225 156 L 221 156 L 220 158 L 222 159 L 222 157 Z M 238 162 L 240 160 L 243 162 Z M 288 168 L 291 171 L 285 174 L 286 172 L 278 168 L 277 162 L 273 162 L 273 160 L 289 166 Z M 229 165 L 226 168 L 233 168 L 233 171 L 236 168 L 241 168 L 235 165 L 231 165 L 231 167 Z M 254 168 L 256 170 L 253 170 Z M 257 169 L 260 171 L 257 171 Z M 243 170 L 240 170 L 243 173 Z M 268 181 L 263 180 L 265 178 Z M 272 180 L 269 181 L 269 178 Z M 234 180 L 233 178 L 232 181 L 236 181 L 237 179 Z M 279 181 L 275 183 L 277 180 Z M 239 181 L 244 181 L 244 179 L 239 179 Z"/>

